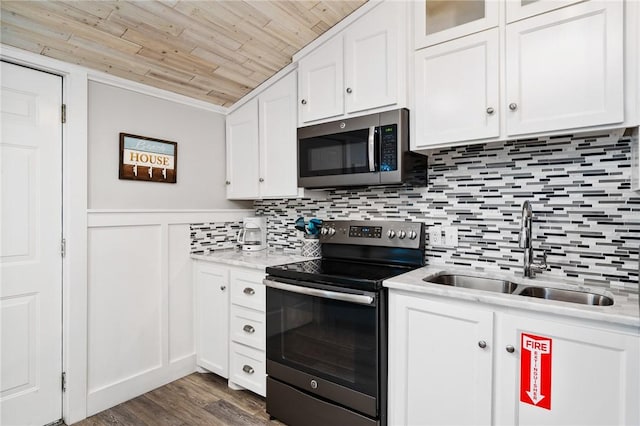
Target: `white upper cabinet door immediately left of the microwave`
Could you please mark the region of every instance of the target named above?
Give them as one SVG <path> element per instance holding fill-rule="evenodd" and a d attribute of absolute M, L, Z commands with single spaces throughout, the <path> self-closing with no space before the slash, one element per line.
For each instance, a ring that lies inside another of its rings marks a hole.
<path fill-rule="evenodd" d="M 260 94 L 260 195 L 298 194 L 295 71 Z"/>

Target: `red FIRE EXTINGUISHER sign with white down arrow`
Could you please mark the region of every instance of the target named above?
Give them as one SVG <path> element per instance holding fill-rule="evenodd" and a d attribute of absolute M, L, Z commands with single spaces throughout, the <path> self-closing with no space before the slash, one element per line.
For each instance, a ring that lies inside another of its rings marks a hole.
<path fill-rule="evenodd" d="M 522 333 L 520 401 L 551 410 L 552 339 Z"/>

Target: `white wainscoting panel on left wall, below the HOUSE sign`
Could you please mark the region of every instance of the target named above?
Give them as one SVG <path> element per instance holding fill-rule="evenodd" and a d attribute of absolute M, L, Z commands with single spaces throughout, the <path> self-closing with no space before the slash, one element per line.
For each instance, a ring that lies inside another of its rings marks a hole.
<path fill-rule="evenodd" d="M 196 369 L 190 223 L 253 210 L 89 210 L 87 416 Z"/>

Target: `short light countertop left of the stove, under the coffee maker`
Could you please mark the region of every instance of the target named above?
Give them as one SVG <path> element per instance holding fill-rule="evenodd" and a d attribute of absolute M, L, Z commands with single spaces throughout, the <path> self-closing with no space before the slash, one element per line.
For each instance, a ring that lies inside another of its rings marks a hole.
<path fill-rule="evenodd" d="M 282 251 L 242 251 L 240 249 L 215 250 L 209 254 L 191 254 L 191 258 L 258 270 L 264 270 L 266 267 L 273 265 L 283 265 L 285 263 L 315 259 L 313 257 L 304 257 L 299 254 L 285 253 Z"/>

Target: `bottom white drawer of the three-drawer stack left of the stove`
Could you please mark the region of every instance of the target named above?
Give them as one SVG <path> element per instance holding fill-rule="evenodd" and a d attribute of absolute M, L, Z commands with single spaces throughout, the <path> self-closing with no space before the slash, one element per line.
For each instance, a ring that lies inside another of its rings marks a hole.
<path fill-rule="evenodd" d="M 266 396 L 266 355 L 264 351 L 231 342 L 229 381 Z"/>

